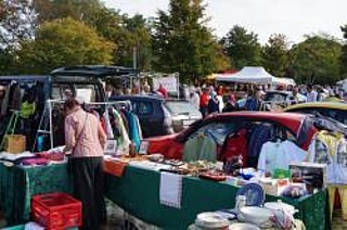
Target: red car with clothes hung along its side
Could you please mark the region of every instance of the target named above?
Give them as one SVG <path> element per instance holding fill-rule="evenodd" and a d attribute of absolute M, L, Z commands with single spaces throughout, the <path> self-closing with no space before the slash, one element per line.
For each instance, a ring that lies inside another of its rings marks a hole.
<path fill-rule="evenodd" d="M 261 124 L 269 124 L 280 128 L 285 132 L 286 139 L 294 141 L 303 150 L 308 150 L 312 137 L 319 128 L 325 129 L 324 127 L 322 128 L 322 126 L 333 126 L 334 129 L 340 128 L 338 124 L 325 120 L 322 117 L 316 119 L 312 116 L 303 114 L 282 112 L 223 113 L 211 115 L 205 119 L 195 122 L 180 133 L 147 139 L 150 141 L 149 153 L 160 153 L 166 158 L 181 159 L 185 141 L 194 137 L 194 135 L 205 131 L 208 132 L 217 142 L 217 154 L 222 156 L 223 153 L 220 153 L 220 151 L 222 151 L 226 145 L 226 141 L 230 133 L 239 132 L 243 129 L 246 130 L 244 139 L 248 139 L 250 137 L 250 132 L 247 132 L 247 129 Z M 261 138 L 259 137 L 259 139 Z M 242 141 L 237 141 L 235 143 L 240 145 L 240 142 Z M 244 150 L 240 149 L 239 151 Z M 219 157 L 219 161 L 222 159 Z"/>

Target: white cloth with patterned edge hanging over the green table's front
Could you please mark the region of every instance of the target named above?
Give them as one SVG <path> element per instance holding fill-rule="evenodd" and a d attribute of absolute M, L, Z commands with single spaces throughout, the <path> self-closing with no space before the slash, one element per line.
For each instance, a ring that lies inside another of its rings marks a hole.
<path fill-rule="evenodd" d="M 160 204 L 181 208 L 182 176 L 162 173 L 159 196 Z"/>

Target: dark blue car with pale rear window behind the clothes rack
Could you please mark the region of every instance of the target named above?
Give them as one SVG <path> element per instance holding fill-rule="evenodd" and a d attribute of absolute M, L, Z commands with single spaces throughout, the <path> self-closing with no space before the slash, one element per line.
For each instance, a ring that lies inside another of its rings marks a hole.
<path fill-rule="evenodd" d="M 181 131 L 202 118 L 200 111 L 187 101 L 167 101 L 154 95 L 120 95 L 110 101 L 131 102 L 145 138 Z"/>

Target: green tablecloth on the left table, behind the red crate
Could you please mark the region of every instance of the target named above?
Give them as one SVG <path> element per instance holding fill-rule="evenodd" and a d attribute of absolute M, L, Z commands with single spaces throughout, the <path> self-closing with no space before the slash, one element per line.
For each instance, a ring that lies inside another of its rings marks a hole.
<path fill-rule="evenodd" d="M 30 168 L 0 164 L 0 205 L 9 226 L 30 219 L 33 195 L 72 191 L 66 164 Z"/>

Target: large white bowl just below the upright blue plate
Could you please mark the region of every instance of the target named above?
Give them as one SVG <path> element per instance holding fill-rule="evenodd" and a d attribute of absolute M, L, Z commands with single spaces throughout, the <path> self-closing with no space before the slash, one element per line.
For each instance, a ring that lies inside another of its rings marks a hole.
<path fill-rule="evenodd" d="M 271 210 L 256 206 L 242 207 L 240 208 L 240 214 L 246 222 L 252 222 L 257 226 L 269 221 L 270 217 L 273 216 L 273 213 Z"/>

